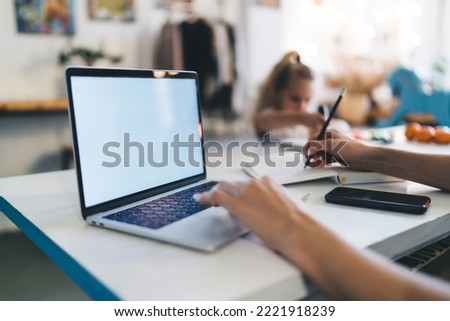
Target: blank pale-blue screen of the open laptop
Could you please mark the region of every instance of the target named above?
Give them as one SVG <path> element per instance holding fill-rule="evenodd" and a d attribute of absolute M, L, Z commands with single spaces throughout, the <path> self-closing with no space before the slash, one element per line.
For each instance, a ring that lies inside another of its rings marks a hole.
<path fill-rule="evenodd" d="M 204 173 L 195 79 L 71 82 L 86 207 Z"/>

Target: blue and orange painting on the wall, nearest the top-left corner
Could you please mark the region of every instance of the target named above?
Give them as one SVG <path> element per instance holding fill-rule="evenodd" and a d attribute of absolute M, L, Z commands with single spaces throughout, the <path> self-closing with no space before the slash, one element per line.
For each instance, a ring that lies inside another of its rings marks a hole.
<path fill-rule="evenodd" d="M 74 34 L 73 0 L 15 0 L 19 33 Z"/>

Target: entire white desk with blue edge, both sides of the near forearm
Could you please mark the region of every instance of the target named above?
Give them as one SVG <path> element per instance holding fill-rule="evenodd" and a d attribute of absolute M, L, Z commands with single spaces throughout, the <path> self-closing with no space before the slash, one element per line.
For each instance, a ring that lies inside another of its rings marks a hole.
<path fill-rule="evenodd" d="M 237 168 L 211 174 L 245 179 Z M 325 180 L 290 188 L 310 193 L 312 215 L 356 247 L 394 258 L 450 232 L 448 193 L 407 182 L 364 185 L 430 196 L 426 214 L 413 216 L 325 203 L 323 195 L 335 186 Z M 0 179 L 0 196 L 0 211 L 94 299 L 293 300 L 307 294 L 292 265 L 246 239 L 204 254 L 87 225 L 73 170 Z"/>

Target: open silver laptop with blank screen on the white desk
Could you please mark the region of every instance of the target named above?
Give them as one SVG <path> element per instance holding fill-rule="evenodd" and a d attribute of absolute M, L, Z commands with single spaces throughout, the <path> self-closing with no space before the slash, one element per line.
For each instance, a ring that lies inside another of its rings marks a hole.
<path fill-rule="evenodd" d="M 84 220 L 201 251 L 247 232 L 192 197 L 216 184 L 195 72 L 68 67 L 66 82 Z"/>

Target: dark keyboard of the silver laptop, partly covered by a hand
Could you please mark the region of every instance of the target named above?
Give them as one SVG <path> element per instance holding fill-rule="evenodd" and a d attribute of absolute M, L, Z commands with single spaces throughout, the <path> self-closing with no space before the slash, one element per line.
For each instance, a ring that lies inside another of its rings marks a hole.
<path fill-rule="evenodd" d="M 193 195 L 210 190 L 217 182 L 207 182 L 170 194 L 126 210 L 109 214 L 104 218 L 135 224 L 152 229 L 161 228 L 182 218 L 203 211 L 211 205 L 198 203 Z"/>

